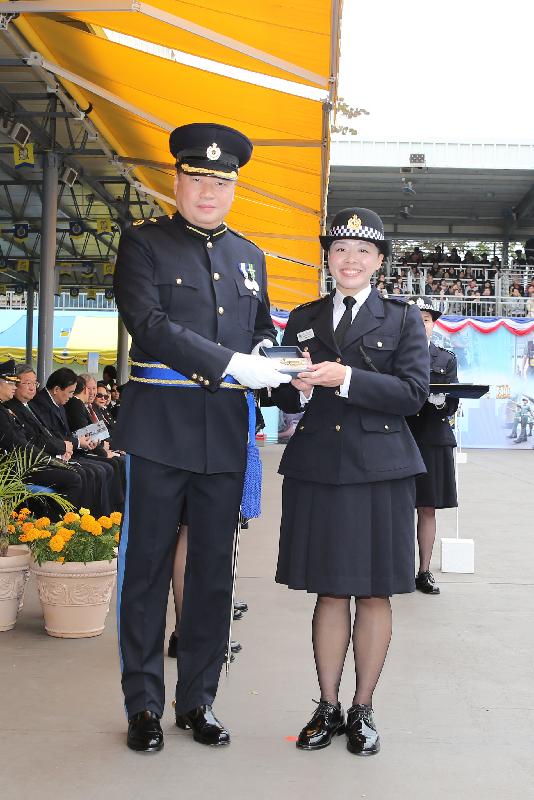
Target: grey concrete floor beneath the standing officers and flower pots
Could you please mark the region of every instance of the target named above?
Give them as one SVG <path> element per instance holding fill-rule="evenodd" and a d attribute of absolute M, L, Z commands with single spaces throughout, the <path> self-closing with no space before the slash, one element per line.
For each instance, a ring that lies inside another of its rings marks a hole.
<path fill-rule="evenodd" d="M 294 737 L 318 696 L 314 598 L 275 585 L 280 446 L 263 449 L 264 514 L 243 533 L 234 625 L 243 651 L 221 679 L 216 713 L 232 744 L 210 749 L 173 725 L 166 658 L 165 748 L 130 752 L 113 610 L 95 639 L 43 628 L 30 582 L 16 628 L 0 634 L 2 796 L 40 800 L 520 800 L 534 797 L 534 452 L 469 451 L 460 466 L 461 536 L 474 575 L 434 571 L 440 597 L 394 598 L 394 634 L 375 695 L 382 751 L 351 756 L 345 737 L 318 753 Z M 438 537 L 455 535 L 439 513 Z M 168 630 L 173 626 L 169 608 Z M 352 660 L 341 699 L 350 705 Z"/>

